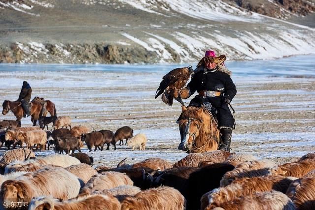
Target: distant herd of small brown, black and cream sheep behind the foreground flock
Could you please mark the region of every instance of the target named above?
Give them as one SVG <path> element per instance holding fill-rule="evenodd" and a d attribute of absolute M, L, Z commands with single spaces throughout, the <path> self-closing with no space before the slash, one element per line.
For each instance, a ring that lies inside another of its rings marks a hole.
<path fill-rule="evenodd" d="M 68 116 L 56 116 L 41 117 L 39 120 L 40 127 L 19 127 L 19 123 L 13 120 L 3 120 L 0 122 L 0 140 L 1 146 L 3 144 L 8 150 L 13 145 L 15 149 L 16 145 L 26 145 L 27 148 L 37 148 L 39 150 L 46 150 L 46 145 L 54 145 L 55 152 L 68 154 L 70 151 L 74 153 L 75 150 L 81 152 L 83 142 L 86 143 L 89 151 L 92 148 L 103 150 L 104 145 L 107 145 L 106 150 L 109 150 L 110 144 L 114 146 L 116 150 L 116 143 L 119 141 L 119 145 L 124 144 L 123 140 L 126 139 L 125 144 L 132 147 L 139 147 L 139 150 L 144 150 L 147 142 L 145 134 L 137 134 L 133 136 L 133 130 L 124 126 L 114 133 L 110 130 L 92 131 L 91 129 L 79 125 L 71 128 L 71 118 Z M 48 123 L 53 123 L 53 131 L 44 131 Z M 68 129 L 70 128 L 70 130 Z M 129 140 L 129 141 L 128 141 Z"/>

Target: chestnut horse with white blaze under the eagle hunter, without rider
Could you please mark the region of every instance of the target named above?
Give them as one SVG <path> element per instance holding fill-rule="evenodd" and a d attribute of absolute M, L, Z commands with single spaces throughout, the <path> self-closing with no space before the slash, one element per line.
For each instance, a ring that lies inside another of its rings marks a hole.
<path fill-rule="evenodd" d="M 181 133 L 179 150 L 203 153 L 218 149 L 221 134 L 213 115 L 204 107 L 182 106 L 178 123 Z"/>

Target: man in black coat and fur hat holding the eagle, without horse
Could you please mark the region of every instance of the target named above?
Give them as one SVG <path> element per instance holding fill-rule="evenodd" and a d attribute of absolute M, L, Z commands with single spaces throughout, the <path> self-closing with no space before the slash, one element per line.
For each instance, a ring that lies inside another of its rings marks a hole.
<path fill-rule="evenodd" d="M 220 59 L 221 61 L 218 62 Z M 235 119 L 228 104 L 236 95 L 236 87 L 231 79 L 232 72 L 223 64 L 225 59 L 224 55 L 216 57 L 214 51 L 207 50 L 199 61 L 193 78 L 186 88 L 180 90 L 179 96 L 186 99 L 197 91 L 199 95 L 191 100 L 190 105 L 200 105 L 200 98 L 202 98 L 208 108 L 211 106 L 216 108 L 222 134 L 222 143 L 218 150 L 230 151 Z"/>

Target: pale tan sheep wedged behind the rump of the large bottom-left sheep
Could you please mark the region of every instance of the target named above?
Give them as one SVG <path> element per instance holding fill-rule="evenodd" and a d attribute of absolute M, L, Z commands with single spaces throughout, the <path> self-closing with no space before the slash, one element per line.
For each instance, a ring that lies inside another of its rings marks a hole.
<path fill-rule="evenodd" d="M 94 168 L 85 163 L 72 165 L 65 169 L 80 178 L 84 184 L 86 184 L 92 176 L 97 174 L 97 171 Z"/>

